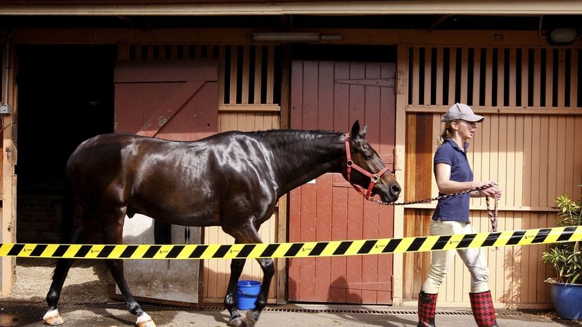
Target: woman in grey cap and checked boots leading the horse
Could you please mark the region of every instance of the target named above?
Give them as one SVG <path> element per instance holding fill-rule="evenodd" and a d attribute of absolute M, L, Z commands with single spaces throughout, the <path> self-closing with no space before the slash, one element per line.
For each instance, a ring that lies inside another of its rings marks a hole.
<path fill-rule="evenodd" d="M 473 170 L 467 160 L 467 141 L 473 138 L 477 123 L 483 116 L 462 103 L 452 105 L 444 118 L 445 128 L 439 135 L 439 148 L 434 154 L 434 177 L 439 193 L 452 194 L 491 184 L 487 188 L 439 200 L 432 215 L 430 235 L 475 233 L 469 220 L 469 197 L 499 198 L 502 191 L 492 181 L 474 182 Z M 479 327 L 497 326 L 495 310 L 488 286 L 489 269 L 482 249 L 459 249 L 459 256 L 469 269 L 471 290 L 469 298 Z M 455 250 L 431 252 L 430 269 L 418 294 L 418 326 L 434 326 L 436 297 L 439 287 L 455 259 Z"/>

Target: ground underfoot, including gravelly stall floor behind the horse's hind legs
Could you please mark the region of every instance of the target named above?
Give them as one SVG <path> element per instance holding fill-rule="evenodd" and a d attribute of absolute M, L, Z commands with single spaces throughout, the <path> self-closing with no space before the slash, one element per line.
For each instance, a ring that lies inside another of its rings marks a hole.
<path fill-rule="evenodd" d="M 51 285 L 54 259 L 17 258 L 16 283 L 12 292 L 0 298 L 1 327 L 46 326 L 42 315 L 44 298 Z M 135 317 L 127 312 L 125 303 L 109 298 L 113 280 L 105 263 L 100 260 L 78 260 L 69 272 L 62 290 L 61 313 L 64 326 L 120 327 L 134 326 Z M 176 308 L 148 305 L 142 308 L 155 317 L 157 326 L 223 327 L 228 312 L 216 308 Z M 515 327 L 582 327 L 581 321 L 556 317 L 553 310 L 496 310 L 499 326 Z M 244 312 L 241 312 L 244 315 Z M 475 326 L 470 309 L 437 308 L 439 327 Z M 325 306 L 290 304 L 267 306 L 256 327 L 415 327 L 416 308 L 387 306 Z"/>

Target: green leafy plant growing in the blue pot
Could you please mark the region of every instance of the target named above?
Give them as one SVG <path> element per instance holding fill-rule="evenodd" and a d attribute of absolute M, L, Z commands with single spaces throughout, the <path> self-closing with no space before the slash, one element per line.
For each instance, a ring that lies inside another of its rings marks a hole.
<path fill-rule="evenodd" d="M 582 185 L 578 185 L 582 186 Z M 556 226 L 582 225 L 582 199 L 573 201 L 567 194 L 556 197 Z M 542 252 L 544 263 L 551 265 L 556 277 L 547 279 L 550 283 L 582 283 L 582 251 L 580 241 L 563 242 L 550 245 Z"/>

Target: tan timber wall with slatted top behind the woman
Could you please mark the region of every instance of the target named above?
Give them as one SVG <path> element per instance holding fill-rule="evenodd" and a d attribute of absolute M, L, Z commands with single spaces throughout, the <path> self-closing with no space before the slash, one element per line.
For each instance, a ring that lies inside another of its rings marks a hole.
<path fill-rule="evenodd" d="M 409 47 L 406 200 L 438 195 L 432 154 L 444 126 L 440 119 L 450 105 L 463 102 L 486 117 L 470 140 L 468 159 L 475 180 L 494 180 L 504 190 L 498 229 L 553 227 L 556 196 L 581 193 L 576 187 L 582 184 L 582 150 L 576 146 L 582 139 L 579 52 L 575 47 Z M 405 236 L 427 235 L 435 204 L 405 206 Z M 477 232 L 490 230 L 484 199 L 471 200 L 470 215 Z M 507 308 L 551 306 L 544 281 L 553 272 L 540 261 L 546 248 L 484 249 L 495 303 Z M 405 266 L 418 264 L 414 269 L 422 272 L 403 274 L 403 300 L 415 301 L 430 259 L 425 254 L 404 258 Z M 468 303 L 469 281 L 457 257 L 441 286 L 439 305 Z"/>

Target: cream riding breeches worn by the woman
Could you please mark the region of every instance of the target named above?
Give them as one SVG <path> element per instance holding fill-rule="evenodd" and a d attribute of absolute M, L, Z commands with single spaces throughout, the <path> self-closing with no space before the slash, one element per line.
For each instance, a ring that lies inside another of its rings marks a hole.
<path fill-rule="evenodd" d="M 430 223 L 430 235 L 452 235 L 452 234 L 475 233 L 473 226 L 468 222 L 435 222 Z M 477 249 L 458 249 L 446 251 L 432 251 L 430 256 L 430 268 L 427 278 L 423 283 L 422 290 L 425 293 L 437 294 L 439 287 L 446 278 L 448 269 L 455 260 L 455 251 L 461 257 L 469 269 L 471 275 L 471 293 L 486 292 L 489 290 L 489 267 L 483 250 Z"/>

